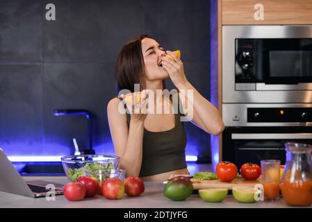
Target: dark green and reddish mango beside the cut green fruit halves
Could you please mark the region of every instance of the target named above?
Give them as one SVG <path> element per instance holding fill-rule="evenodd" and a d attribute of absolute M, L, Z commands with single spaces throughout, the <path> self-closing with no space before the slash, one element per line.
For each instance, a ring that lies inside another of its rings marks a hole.
<path fill-rule="evenodd" d="M 168 180 L 163 194 L 172 200 L 186 200 L 192 194 L 193 187 L 190 178 L 178 176 Z"/>

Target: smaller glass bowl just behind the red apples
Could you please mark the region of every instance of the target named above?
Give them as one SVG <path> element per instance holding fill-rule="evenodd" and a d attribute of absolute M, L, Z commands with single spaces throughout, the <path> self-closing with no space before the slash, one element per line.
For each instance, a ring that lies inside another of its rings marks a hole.
<path fill-rule="evenodd" d="M 120 178 L 122 182 L 126 178 L 126 170 L 124 169 L 96 169 L 85 171 L 85 176 L 95 177 L 99 182 L 103 182 L 106 178 Z"/>

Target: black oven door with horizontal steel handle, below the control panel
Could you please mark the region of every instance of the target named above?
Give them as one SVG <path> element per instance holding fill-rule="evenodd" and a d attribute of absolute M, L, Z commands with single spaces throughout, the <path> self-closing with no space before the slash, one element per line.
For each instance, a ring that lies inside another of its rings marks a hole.
<path fill-rule="evenodd" d="M 286 142 L 311 144 L 311 127 L 227 127 L 222 134 L 222 160 L 260 164 L 261 160 L 281 160 L 285 164 Z"/>

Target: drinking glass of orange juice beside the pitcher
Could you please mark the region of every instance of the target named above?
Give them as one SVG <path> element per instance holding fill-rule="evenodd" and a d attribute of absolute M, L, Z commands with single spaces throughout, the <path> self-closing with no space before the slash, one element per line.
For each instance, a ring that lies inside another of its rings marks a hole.
<path fill-rule="evenodd" d="M 265 200 L 279 200 L 280 166 L 279 160 L 261 160 L 261 183 Z"/>

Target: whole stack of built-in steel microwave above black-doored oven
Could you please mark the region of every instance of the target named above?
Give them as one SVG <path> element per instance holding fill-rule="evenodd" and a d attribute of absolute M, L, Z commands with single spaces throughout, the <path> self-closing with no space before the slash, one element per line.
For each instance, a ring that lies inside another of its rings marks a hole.
<path fill-rule="evenodd" d="M 222 160 L 284 163 L 312 144 L 312 26 L 222 28 Z"/>

